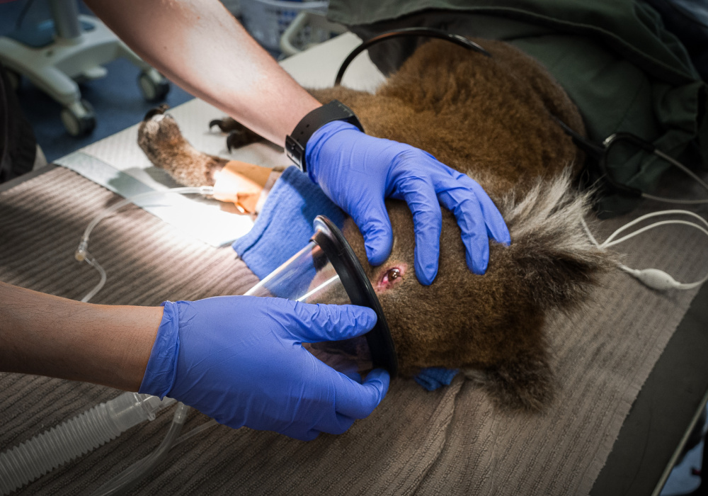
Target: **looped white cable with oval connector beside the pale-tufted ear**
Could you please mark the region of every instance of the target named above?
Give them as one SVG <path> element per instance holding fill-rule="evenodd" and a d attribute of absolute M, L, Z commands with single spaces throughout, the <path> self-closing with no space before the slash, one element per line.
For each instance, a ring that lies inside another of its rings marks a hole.
<path fill-rule="evenodd" d="M 624 241 L 627 241 L 627 239 L 630 239 L 636 235 L 640 235 L 642 232 L 646 232 L 648 230 L 654 229 L 655 227 L 660 227 L 662 225 L 669 225 L 669 224 L 679 224 L 679 225 L 687 225 L 690 227 L 694 227 L 697 230 L 700 230 L 701 232 L 704 233 L 704 235 L 708 236 L 708 230 L 706 230 L 704 227 L 696 224 L 695 222 L 688 222 L 687 220 L 660 220 L 658 222 L 654 222 L 653 224 L 641 227 L 641 229 L 636 230 L 634 232 L 629 233 L 628 235 L 624 235 L 623 237 L 619 239 L 615 239 L 617 235 L 620 233 L 624 232 L 627 230 L 629 227 L 632 227 L 633 225 L 636 225 L 637 223 L 652 218 L 652 217 L 658 217 L 660 215 L 690 215 L 691 217 L 695 217 L 698 220 L 700 220 L 706 227 L 708 227 L 708 221 L 702 218 L 700 215 L 697 215 L 693 212 L 689 212 L 688 210 L 662 210 L 661 212 L 652 212 L 648 213 L 646 215 L 642 215 L 639 218 L 636 218 L 632 220 L 632 222 L 627 222 L 627 224 L 623 225 L 622 227 L 619 227 L 619 229 L 615 230 L 615 232 L 612 232 L 612 234 L 605 239 L 604 242 L 598 243 L 598 240 L 595 239 L 593 236 L 593 233 L 590 232 L 590 228 L 588 227 L 587 223 L 585 222 L 585 219 L 581 218 L 581 224 L 583 225 L 583 229 L 585 230 L 586 234 L 590 238 L 590 241 L 595 244 L 598 249 L 607 249 L 609 247 L 615 246 L 616 244 L 622 243 Z M 669 274 L 666 274 L 666 272 L 660 270 L 660 269 L 632 269 L 632 267 L 628 267 L 624 264 L 620 264 L 617 262 L 617 266 L 619 269 L 622 269 L 622 271 L 627 272 L 627 274 L 633 276 L 634 278 L 638 279 L 642 283 L 644 283 L 646 286 L 649 286 L 649 288 L 656 289 L 658 291 L 666 291 L 667 289 L 692 289 L 692 288 L 697 288 L 700 286 L 702 283 L 708 281 L 708 275 L 702 278 L 700 281 L 696 281 L 695 283 L 680 283 L 676 281 L 673 277 L 671 277 Z"/>

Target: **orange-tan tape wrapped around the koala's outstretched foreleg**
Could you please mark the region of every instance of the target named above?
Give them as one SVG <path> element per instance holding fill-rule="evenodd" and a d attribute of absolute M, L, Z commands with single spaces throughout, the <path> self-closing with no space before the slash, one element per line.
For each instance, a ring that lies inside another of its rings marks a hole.
<path fill-rule="evenodd" d="M 231 160 L 215 174 L 214 198 L 236 204 L 243 213 L 254 213 L 272 169 Z"/>

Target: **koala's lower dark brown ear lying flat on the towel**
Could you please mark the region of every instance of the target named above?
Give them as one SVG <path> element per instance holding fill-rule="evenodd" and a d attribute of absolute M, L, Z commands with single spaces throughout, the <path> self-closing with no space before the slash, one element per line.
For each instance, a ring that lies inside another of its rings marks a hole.
<path fill-rule="evenodd" d="M 462 372 L 481 385 L 499 407 L 539 412 L 553 399 L 554 376 L 545 352 L 536 351 L 484 370 L 462 368 Z"/>

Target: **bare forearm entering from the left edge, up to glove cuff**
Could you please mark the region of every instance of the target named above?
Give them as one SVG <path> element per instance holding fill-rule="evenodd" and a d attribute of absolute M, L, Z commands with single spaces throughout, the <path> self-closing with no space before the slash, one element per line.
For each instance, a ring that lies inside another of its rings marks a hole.
<path fill-rule="evenodd" d="M 0 282 L 0 370 L 137 391 L 160 307 L 92 305 Z"/>

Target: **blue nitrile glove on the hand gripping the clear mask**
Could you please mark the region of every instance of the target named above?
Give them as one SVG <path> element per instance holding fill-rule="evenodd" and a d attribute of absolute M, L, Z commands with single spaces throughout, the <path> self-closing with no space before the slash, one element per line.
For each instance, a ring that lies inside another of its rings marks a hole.
<path fill-rule="evenodd" d="M 234 429 L 303 441 L 341 434 L 379 404 L 389 374 L 376 369 L 355 382 L 302 343 L 355 337 L 375 322 L 369 308 L 282 298 L 165 302 L 139 392 L 169 396 Z"/>

